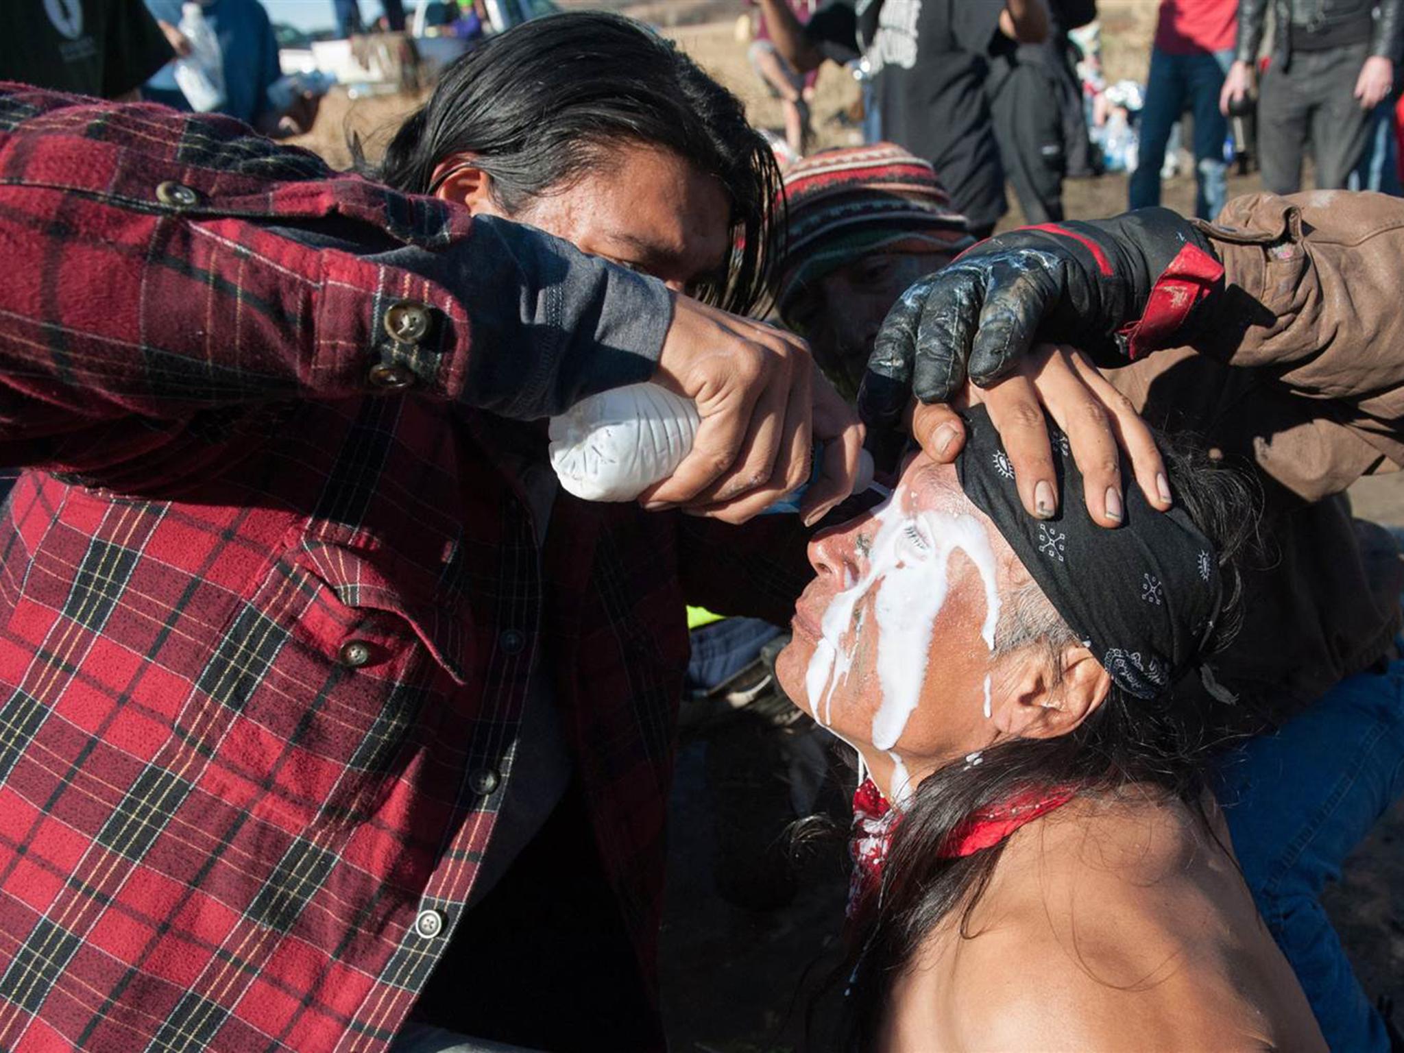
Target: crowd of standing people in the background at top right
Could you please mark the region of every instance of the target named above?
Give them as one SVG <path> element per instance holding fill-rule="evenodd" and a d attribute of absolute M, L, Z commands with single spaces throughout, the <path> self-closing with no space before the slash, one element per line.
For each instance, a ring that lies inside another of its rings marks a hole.
<path fill-rule="evenodd" d="M 931 35 L 918 41 L 917 24 L 900 4 L 865 7 L 868 28 L 842 4 L 821 8 L 813 25 L 806 24 L 813 8 L 802 10 L 804 17 L 783 31 L 779 60 L 786 69 L 813 69 L 826 56 L 861 63 L 865 76 L 887 86 L 873 94 L 866 140 L 914 143 L 938 170 L 949 171 L 956 202 L 977 230 L 1002 215 L 991 188 L 1004 180 L 1029 222 L 1061 218 L 1064 178 L 1123 167 L 1130 170 L 1130 206 L 1157 205 L 1164 177 L 1178 167 L 1181 143 L 1192 154 L 1200 218 L 1223 208 L 1236 156 L 1254 164 L 1262 185 L 1276 194 L 1300 187 L 1309 154 L 1318 188 L 1400 192 L 1394 70 L 1404 32 L 1391 0 L 1275 4 L 1271 41 L 1268 0 L 1167 0 L 1158 8 L 1144 84 L 1116 86 L 1102 76 L 1101 27 L 1091 1 L 1045 0 L 1046 24 L 1036 42 L 1018 35 L 1028 34 L 1018 21 L 997 34 L 973 25 L 969 44 L 956 21 L 946 27 L 929 20 L 921 20 L 920 34 Z M 973 18 L 980 6 L 959 10 Z M 776 55 L 764 18 L 758 24 L 757 46 Z M 920 76 L 921 88 L 899 88 L 901 73 L 882 74 L 893 53 L 900 56 L 897 70 L 936 62 L 921 56 L 942 56 L 942 67 L 952 72 L 939 80 Z M 768 83 L 775 80 L 774 72 L 757 69 Z M 907 133 L 908 104 L 931 105 L 945 117 Z M 1244 118 L 1237 132 L 1233 115 Z M 799 126 L 786 114 L 793 153 L 792 125 Z M 995 157 L 1000 177 L 991 174 Z M 972 167 L 984 201 L 963 190 Z"/>

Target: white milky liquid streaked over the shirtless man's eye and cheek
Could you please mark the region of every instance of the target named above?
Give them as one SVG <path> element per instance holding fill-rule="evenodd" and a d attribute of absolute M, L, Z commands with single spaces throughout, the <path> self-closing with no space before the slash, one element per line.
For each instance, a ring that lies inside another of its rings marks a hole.
<path fill-rule="evenodd" d="M 991 650 L 1000 597 L 994 550 L 984 526 L 973 515 L 936 511 L 907 515 L 894 497 L 876 510 L 875 518 L 879 526 L 868 552 L 868 570 L 835 594 L 826 608 L 804 689 L 810 712 L 827 727 L 834 689 L 848 678 L 854 664 L 854 644 L 861 630 L 854 615 L 862 598 L 878 585 L 873 616 L 879 630 L 882 703 L 873 716 L 872 741 L 879 750 L 890 750 L 917 708 L 927 680 L 931 636 L 946 600 L 951 553 L 960 549 L 980 573 L 986 597 L 981 636 Z M 845 633 L 851 633 L 847 647 L 841 646 Z"/>

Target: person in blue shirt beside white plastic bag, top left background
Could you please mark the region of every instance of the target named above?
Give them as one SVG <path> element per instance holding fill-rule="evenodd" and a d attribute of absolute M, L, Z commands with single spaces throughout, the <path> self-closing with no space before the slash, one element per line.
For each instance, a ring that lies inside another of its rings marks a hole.
<path fill-rule="evenodd" d="M 298 94 L 289 105 L 281 107 L 268 93 L 282 77 L 282 67 L 278 38 L 263 4 L 258 0 L 198 3 L 223 56 L 225 101 L 218 111 L 275 139 L 310 131 L 320 105 L 316 95 Z M 146 7 L 163 24 L 181 22 L 184 4 L 180 0 L 146 0 Z M 168 66 L 146 81 L 145 94 L 176 110 L 191 108 Z"/>

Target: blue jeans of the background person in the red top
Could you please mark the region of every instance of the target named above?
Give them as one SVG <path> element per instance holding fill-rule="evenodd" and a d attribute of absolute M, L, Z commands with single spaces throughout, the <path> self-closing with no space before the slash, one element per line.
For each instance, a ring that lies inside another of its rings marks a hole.
<path fill-rule="evenodd" d="M 1224 140 L 1228 121 L 1219 112 L 1219 91 L 1233 62 L 1231 51 L 1170 55 L 1150 53 L 1146 104 L 1140 112 L 1140 149 L 1130 178 L 1132 208 L 1160 204 L 1160 167 L 1165 163 L 1170 129 L 1188 108 L 1195 121 L 1195 215 L 1212 219 L 1227 198 Z"/>

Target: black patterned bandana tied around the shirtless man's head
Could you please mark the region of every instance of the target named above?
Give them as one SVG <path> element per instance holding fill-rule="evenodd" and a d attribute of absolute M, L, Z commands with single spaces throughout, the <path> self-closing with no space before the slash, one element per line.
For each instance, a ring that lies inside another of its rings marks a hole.
<path fill-rule="evenodd" d="M 1067 437 L 1052 424 L 1049 431 L 1063 494 L 1054 518 L 1035 519 L 1024 510 L 983 406 L 966 414 L 960 486 L 1118 687 L 1137 698 L 1163 695 L 1199 664 L 1219 616 L 1223 583 L 1213 545 L 1184 508 L 1151 508 L 1134 482 L 1126 487 L 1122 525 L 1098 526 Z M 1134 479 L 1125 459 L 1122 479 Z"/>

